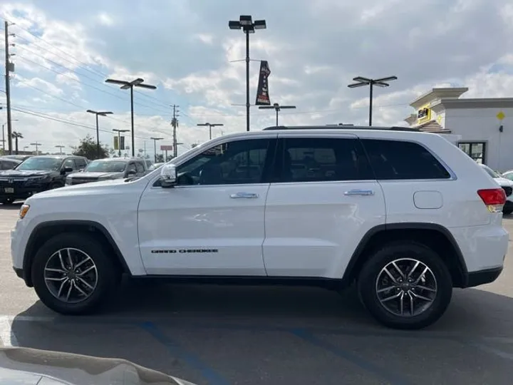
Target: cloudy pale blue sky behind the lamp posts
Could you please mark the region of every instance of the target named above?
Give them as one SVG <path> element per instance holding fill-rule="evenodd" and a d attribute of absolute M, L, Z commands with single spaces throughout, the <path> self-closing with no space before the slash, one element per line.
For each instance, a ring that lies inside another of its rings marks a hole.
<path fill-rule="evenodd" d="M 20 148 L 38 141 L 44 151 L 71 151 L 95 135 L 87 109 L 114 112 L 100 118 L 100 140 L 112 144 L 113 128 L 130 128 L 130 100 L 108 77 L 157 86 L 135 93 L 135 147 L 150 155 L 150 137 L 172 142 L 172 104 L 180 106 L 180 151 L 208 139 L 197 123 L 223 123 L 214 136 L 245 130 L 245 108 L 233 106 L 245 103 L 237 61 L 245 40 L 228 29 L 240 14 L 267 22 L 251 36 L 251 58 L 269 61 L 271 103 L 297 106 L 281 113 L 282 124 L 365 124 L 368 88 L 348 88 L 355 76 L 398 76 L 375 92 L 375 125 L 405 124 L 408 104 L 433 86 L 513 97 L 510 0 L 4 0 L 1 34 L 4 21 L 16 34 L 11 103 Z M 258 69 L 252 62 L 252 103 Z M 3 82 L 4 106 L 2 91 Z M 273 111 L 253 107 L 252 130 L 267 125 Z"/>

